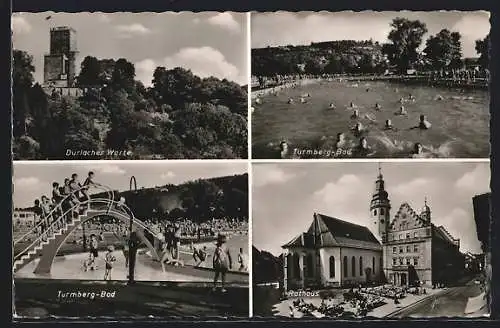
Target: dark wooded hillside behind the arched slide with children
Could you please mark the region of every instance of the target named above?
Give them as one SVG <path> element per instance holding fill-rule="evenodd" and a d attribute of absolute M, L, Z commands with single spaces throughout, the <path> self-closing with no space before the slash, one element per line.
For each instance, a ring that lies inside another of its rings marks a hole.
<path fill-rule="evenodd" d="M 92 195 L 106 197 L 105 193 Z M 248 219 L 248 174 L 200 179 L 134 191 L 115 191 L 141 219 L 190 218 L 205 221 L 228 216 Z"/>

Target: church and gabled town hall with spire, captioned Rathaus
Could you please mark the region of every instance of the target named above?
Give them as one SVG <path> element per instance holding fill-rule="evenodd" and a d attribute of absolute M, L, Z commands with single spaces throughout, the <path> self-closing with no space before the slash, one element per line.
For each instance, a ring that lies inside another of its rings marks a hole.
<path fill-rule="evenodd" d="M 382 172 L 370 202 L 371 229 L 314 213 L 308 230 L 282 246 L 283 286 L 287 289 L 448 284 L 464 271 L 460 240 L 432 223 L 424 202 L 408 203 L 391 216 Z"/>

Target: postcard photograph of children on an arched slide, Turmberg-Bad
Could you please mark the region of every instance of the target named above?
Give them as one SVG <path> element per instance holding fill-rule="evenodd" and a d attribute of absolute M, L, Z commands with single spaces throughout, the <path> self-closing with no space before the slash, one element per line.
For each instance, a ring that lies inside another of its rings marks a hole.
<path fill-rule="evenodd" d="M 17 318 L 248 317 L 246 162 L 15 162 Z"/>

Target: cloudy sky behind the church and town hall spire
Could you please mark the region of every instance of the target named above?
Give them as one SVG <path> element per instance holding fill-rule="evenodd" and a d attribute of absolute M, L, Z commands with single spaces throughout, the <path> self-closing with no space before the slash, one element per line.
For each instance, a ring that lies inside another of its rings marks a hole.
<path fill-rule="evenodd" d="M 460 238 L 462 252 L 481 252 L 472 197 L 490 190 L 488 162 L 384 162 L 381 169 L 391 219 L 403 202 L 419 213 L 427 197 L 432 222 Z M 377 175 L 378 164 L 367 162 L 253 164 L 253 245 L 279 255 L 315 212 L 372 228 Z"/>

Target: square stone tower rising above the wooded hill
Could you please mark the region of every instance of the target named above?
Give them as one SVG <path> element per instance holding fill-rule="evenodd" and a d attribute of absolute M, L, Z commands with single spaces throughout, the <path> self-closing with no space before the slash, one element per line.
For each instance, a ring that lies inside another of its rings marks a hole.
<path fill-rule="evenodd" d="M 44 56 L 44 85 L 71 88 L 76 76 L 76 31 L 68 26 L 50 29 L 50 53 Z"/>

